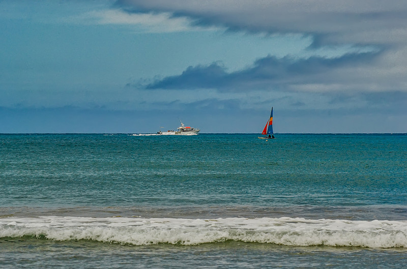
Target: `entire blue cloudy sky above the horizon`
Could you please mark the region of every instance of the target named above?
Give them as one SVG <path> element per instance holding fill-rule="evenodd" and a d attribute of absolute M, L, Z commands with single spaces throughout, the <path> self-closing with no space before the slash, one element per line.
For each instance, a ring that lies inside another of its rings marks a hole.
<path fill-rule="evenodd" d="M 0 133 L 407 133 L 401 0 L 0 0 Z"/>

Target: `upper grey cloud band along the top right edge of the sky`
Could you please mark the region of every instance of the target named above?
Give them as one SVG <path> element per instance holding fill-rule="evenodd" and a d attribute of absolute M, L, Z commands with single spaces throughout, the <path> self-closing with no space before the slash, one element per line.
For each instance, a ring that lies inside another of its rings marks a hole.
<path fill-rule="evenodd" d="M 171 12 L 201 25 L 238 31 L 301 33 L 318 44 L 403 44 L 407 4 L 400 0 L 119 0 L 128 12 Z M 379 35 L 378 35 L 379 34 Z"/>

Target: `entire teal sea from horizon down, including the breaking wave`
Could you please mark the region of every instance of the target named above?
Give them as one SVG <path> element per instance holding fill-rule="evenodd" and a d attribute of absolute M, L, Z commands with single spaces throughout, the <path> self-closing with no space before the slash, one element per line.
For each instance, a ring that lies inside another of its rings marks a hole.
<path fill-rule="evenodd" d="M 1 268 L 406 268 L 406 134 L 0 134 Z"/>

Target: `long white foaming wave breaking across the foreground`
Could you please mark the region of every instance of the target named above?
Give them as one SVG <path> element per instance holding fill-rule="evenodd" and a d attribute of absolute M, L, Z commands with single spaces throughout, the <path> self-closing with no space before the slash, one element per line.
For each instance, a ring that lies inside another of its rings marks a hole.
<path fill-rule="evenodd" d="M 0 237 L 45 237 L 131 245 L 197 245 L 227 240 L 287 246 L 407 248 L 407 221 L 302 218 L 0 218 Z"/>

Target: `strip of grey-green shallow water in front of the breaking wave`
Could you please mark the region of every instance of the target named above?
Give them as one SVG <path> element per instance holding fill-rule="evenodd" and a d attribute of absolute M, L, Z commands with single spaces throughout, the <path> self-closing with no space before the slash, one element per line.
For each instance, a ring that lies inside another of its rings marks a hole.
<path fill-rule="evenodd" d="M 3 268 L 405 268 L 405 249 L 287 247 L 225 242 L 122 246 L 92 241 L 2 239 Z"/>

